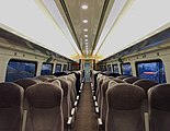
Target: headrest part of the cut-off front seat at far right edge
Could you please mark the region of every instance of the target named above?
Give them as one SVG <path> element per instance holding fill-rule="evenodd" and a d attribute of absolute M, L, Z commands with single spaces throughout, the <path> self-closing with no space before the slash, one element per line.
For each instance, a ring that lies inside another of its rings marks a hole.
<path fill-rule="evenodd" d="M 159 84 L 148 91 L 150 107 L 170 111 L 170 84 Z"/>

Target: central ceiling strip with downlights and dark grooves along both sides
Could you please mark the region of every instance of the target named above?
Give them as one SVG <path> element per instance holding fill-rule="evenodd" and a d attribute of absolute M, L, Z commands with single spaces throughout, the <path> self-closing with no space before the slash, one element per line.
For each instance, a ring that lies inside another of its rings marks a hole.
<path fill-rule="evenodd" d="M 94 50 L 114 0 L 55 0 L 69 32 L 83 56 Z M 52 13 L 49 1 L 44 4 Z M 53 14 L 52 14 L 53 15 Z M 53 15 L 54 16 L 54 15 Z"/>

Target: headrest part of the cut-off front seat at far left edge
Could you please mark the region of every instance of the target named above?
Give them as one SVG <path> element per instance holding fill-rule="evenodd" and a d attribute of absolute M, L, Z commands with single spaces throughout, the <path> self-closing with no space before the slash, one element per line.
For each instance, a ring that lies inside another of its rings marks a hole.
<path fill-rule="evenodd" d="M 0 83 L 0 108 L 21 106 L 23 94 L 23 88 L 15 83 Z"/>

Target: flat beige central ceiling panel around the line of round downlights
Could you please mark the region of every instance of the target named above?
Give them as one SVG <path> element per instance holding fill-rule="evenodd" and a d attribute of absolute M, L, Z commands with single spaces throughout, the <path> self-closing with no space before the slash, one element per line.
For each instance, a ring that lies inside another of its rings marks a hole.
<path fill-rule="evenodd" d="M 70 22 L 76 33 L 76 37 L 80 44 L 80 47 L 86 53 L 86 39 L 88 39 L 88 53 L 91 53 L 92 46 L 94 44 L 97 31 L 99 27 L 99 22 L 101 19 L 104 0 L 60 0 L 65 13 L 68 13 Z M 65 5 L 65 7 L 64 7 Z M 88 9 L 82 9 L 82 5 L 88 5 Z M 87 20 L 87 23 L 82 21 Z M 83 29 L 87 28 L 88 32 Z M 84 35 L 88 35 L 86 38 Z"/>

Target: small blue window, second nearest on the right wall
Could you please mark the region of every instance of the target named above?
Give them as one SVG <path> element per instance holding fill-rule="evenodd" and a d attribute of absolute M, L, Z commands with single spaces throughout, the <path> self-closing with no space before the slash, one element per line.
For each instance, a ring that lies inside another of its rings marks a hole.
<path fill-rule="evenodd" d="M 124 75 L 133 74 L 131 63 L 122 63 L 121 67 L 122 67 L 122 74 L 124 74 Z"/>

